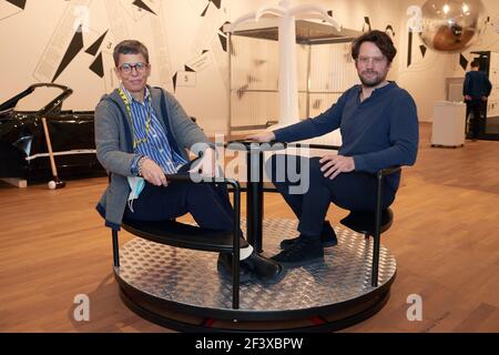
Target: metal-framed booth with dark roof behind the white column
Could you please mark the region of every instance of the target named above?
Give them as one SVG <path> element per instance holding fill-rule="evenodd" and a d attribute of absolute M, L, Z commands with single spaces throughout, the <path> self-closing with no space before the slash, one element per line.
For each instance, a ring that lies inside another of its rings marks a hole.
<path fill-rule="evenodd" d="M 242 23 L 228 38 L 228 135 L 278 122 L 278 20 Z M 358 77 L 350 42 L 361 32 L 312 20 L 296 20 L 296 62 L 299 119 L 334 104 Z"/>

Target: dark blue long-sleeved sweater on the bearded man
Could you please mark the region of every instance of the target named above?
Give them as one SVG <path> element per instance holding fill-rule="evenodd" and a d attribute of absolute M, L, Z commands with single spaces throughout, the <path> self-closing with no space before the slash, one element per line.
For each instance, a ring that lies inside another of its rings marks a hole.
<path fill-rule="evenodd" d="M 413 165 L 419 131 L 416 104 L 395 82 L 360 102 L 360 85 L 346 91 L 326 112 L 274 131 L 276 140 L 295 142 L 340 129 L 338 154 L 353 156 L 355 171 L 375 173 L 393 165 Z M 393 181 L 394 183 L 397 181 Z"/>

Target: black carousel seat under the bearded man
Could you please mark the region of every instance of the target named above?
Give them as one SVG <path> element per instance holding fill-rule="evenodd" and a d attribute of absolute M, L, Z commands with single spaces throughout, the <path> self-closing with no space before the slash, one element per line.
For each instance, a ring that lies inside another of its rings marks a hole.
<path fill-rule="evenodd" d="M 350 213 L 339 221 L 346 227 L 364 234 L 366 237 L 374 236 L 376 231 L 376 212 L 371 211 L 350 211 Z M 391 209 L 381 211 L 381 224 L 379 233 L 388 231 L 394 222 Z"/>

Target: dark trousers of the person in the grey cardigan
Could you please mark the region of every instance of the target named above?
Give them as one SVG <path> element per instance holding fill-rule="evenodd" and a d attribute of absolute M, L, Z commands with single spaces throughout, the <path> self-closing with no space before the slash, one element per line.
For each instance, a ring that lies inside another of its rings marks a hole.
<path fill-rule="evenodd" d="M 193 162 L 182 166 L 180 174 L 189 174 Z M 191 213 L 202 226 L 220 231 L 232 231 L 234 210 L 224 184 L 175 183 L 155 186 L 145 182 L 145 187 L 133 201 L 133 211 L 126 205 L 124 219 L 135 221 L 173 220 Z"/>

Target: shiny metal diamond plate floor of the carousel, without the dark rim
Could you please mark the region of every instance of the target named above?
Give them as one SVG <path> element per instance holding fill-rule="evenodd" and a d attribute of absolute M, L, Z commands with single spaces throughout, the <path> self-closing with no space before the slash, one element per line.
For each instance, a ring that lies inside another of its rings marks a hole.
<path fill-rule="evenodd" d="M 243 231 L 245 221 L 242 221 Z M 293 220 L 265 220 L 264 254 L 276 254 L 281 240 L 297 235 Z M 324 262 L 287 271 L 278 283 L 241 285 L 241 311 L 289 311 L 327 306 L 370 293 L 373 239 L 335 227 L 338 245 L 325 248 Z M 118 275 L 129 285 L 181 304 L 231 310 L 231 278 L 217 271 L 216 253 L 191 251 L 135 237 L 120 248 Z M 381 245 L 379 286 L 396 272 Z"/>

